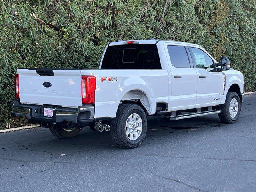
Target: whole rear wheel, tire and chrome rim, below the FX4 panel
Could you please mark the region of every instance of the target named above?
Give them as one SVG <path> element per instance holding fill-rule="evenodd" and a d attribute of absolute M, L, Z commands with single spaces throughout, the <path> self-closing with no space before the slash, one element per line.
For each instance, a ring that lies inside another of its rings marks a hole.
<path fill-rule="evenodd" d="M 121 148 L 138 147 L 147 132 L 147 118 L 144 110 L 136 104 L 122 104 L 111 122 L 110 134 L 115 144 Z"/>

